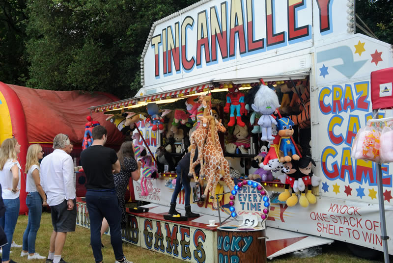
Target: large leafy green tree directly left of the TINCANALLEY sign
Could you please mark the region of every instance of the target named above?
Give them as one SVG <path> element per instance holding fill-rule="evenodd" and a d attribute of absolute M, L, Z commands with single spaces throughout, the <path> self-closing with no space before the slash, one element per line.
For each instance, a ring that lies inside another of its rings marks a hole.
<path fill-rule="evenodd" d="M 197 0 L 29 0 L 28 86 L 132 97 L 153 22 Z"/>

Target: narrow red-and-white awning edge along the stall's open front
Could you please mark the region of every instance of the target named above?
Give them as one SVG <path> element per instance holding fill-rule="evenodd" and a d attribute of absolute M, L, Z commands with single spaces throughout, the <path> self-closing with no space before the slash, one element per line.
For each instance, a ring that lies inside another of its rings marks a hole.
<path fill-rule="evenodd" d="M 166 92 L 160 92 L 160 93 L 155 93 L 155 94 L 150 94 L 146 96 L 141 96 L 141 97 L 134 97 L 130 99 L 125 99 L 122 101 L 117 101 L 114 103 L 109 103 L 109 104 L 104 104 L 104 105 L 99 105 L 99 106 L 92 106 L 89 107 L 90 110 L 95 111 L 95 112 L 105 112 L 113 109 L 121 109 L 125 107 L 130 107 L 133 105 L 138 105 L 140 102 L 157 102 L 160 100 L 166 100 L 166 99 L 173 99 L 173 98 L 180 98 L 183 96 L 187 95 L 193 95 L 193 94 L 198 94 L 201 92 L 206 92 L 209 90 L 214 89 L 212 84 L 203 84 L 195 87 L 188 87 L 188 88 L 183 88 L 183 89 L 178 89 L 178 90 L 171 90 L 171 91 L 166 91 Z"/>

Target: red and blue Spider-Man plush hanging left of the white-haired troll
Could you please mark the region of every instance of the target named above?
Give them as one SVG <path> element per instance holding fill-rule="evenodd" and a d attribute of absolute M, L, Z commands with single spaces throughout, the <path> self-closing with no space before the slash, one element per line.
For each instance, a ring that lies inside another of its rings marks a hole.
<path fill-rule="evenodd" d="M 241 85 L 240 85 L 241 86 Z M 228 126 L 235 125 L 235 109 L 236 109 L 236 122 L 239 126 L 244 127 L 246 124 L 242 121 L 242 115 L 247 114 L 247 110 L 244 103 L 244 94 L 239 92 L 238 85 L 233 84 L 231 88 L 228 88 L 229 93 L 226 94 L 226 104 L 224 112 L 229 113 L 230 120 Z"/>

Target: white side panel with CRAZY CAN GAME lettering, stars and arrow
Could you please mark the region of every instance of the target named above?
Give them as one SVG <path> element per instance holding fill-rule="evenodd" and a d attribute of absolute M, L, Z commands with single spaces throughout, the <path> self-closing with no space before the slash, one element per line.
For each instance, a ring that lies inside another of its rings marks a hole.
<path fill-rule="evenodd" d="M 377 164 L 351 158 L 351 147 L 359 129 L 373 118 L 370 72 L 390 66 L 389 48 L 380 41 L 353 35 L 316 49 L 317 88 L 311 98 L 315 105 L 311 108 L 315 109 L 311 110 L 315 137 L 311 151 L 318 158 L 321 196 L 378 203 Z M 379 117 L 384 115 L 385 111 L 379 113 Z M 392 165 L 382 165 L 386 205 L 393 199 L 392 173 Z"/>

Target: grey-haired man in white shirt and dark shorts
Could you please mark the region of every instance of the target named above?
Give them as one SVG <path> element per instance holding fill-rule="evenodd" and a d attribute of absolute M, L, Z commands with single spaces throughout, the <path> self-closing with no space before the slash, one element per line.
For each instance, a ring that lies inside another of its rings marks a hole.
<path fill-rule="evenodd" d="M 67 232 L 75 231 L 77 217 L 74 162 L 66 149 L 67 135 L 59 133 L 53 139 L 55 151 L 41 161 L 41 186 L 51 206 L 53 233 L 46 263 L 66 263 L 61 252 Z"/>

